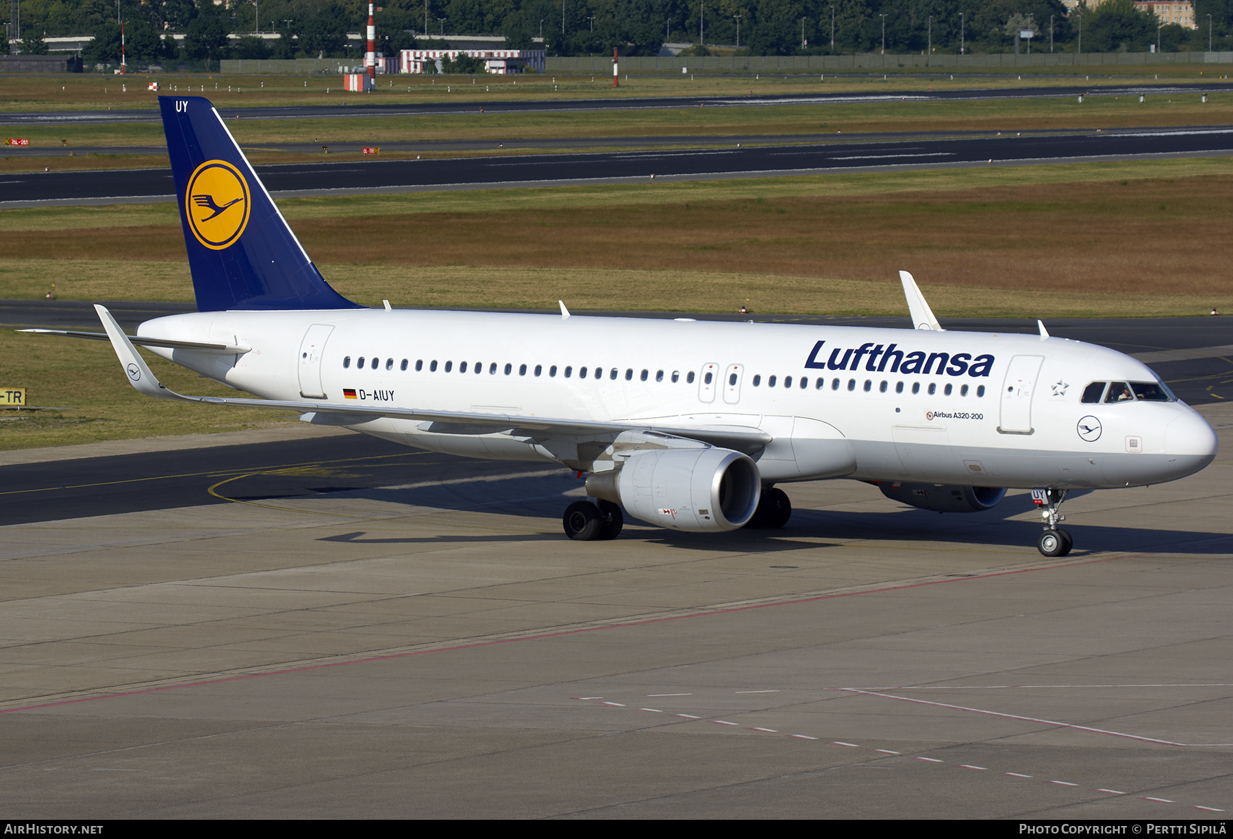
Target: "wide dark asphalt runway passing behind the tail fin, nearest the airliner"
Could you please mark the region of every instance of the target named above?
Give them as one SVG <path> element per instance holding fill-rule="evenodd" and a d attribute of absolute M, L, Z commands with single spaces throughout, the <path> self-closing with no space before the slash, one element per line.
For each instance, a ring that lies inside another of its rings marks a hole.
<path fill-rule="evenodd" d="M 1233 128 L 1144 129 L 1080 136 L 1004 136 L 847 143 L 597 152 L 583 154 L 371 160 L 256 166 L 275 196 L 439 188 L 767 177 L 841 170 L 1022 165 L 1073 160 L 1228 155 Z M 170 170 L 26 172 L 0 176 L 2 207 L 171 201 Z"/>

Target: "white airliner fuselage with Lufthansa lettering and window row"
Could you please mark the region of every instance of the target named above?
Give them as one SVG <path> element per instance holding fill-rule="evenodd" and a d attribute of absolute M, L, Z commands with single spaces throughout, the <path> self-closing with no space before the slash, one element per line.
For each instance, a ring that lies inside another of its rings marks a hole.
<path fill-rule="evenodd" d="M 139 335 L 249 346 L 239 356 L 153 351 L 306 413 L 328 402 L 761 429 L 773 440 L 750 453 L 766 483 L 1126 487 L 1191 474 L 1216 455 L 1211 426 L 1184 403 L 1081 402 L 1092 382 L 1157 382 L 1143 363 L 1037 335 L 406 309 L 184 314 Z M 398 418 L 318 421 L 586 469 L 608 442 Z"/>

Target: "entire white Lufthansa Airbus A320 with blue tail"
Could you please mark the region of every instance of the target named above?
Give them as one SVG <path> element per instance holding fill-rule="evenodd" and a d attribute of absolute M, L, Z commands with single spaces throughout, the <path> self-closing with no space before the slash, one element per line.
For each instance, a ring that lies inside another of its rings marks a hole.
<path fill-rule="evenodd" d="M 783 526 L 779 485 L 851 478 L 940 513 L 1031 489 L 1037 547 L 1065 556 L 1068 490 L 1174 480 L 1216 456 L 1212 428 L 1143 363 L 1043 325 L 944 331 L 906 272 L 914 329 L 361 307 L 322 278 L 213 106 L 160 106 L 199 312 L 129 336 L 100 306 L 106 333 L 72 334 L 109 339 L 145 395 L 562 463 L 589 494 L 563 513 L 571 538 L 614 538 L 626 514 Z M 169 391 L 134 345 L 260 398 Z"/>

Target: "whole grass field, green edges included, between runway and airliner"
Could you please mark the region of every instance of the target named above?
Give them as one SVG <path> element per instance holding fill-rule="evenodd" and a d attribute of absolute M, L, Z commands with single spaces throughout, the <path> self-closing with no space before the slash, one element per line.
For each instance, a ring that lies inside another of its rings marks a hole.
<path fill-rule="evenodd" d="M 724 312 L 748 297 L 760 312 L 885 313 L 866 294 L 815 297 L 800 282 L 879 283 L 907 269 L 964 290 L 940 299 L 940 313 L 1014 314 L 1017 294 L 1047 292 L 1036 314 L 1180 314 L 1227 306 L 1226 257 L 1212 243 L 1233 211 L 1233 161 L 323 197 L 284 209 L 322 270 L 370 304 L 568 298 Z M 4 211 L 0 230 L 0 296 L 41 297 L 54 282 L 65 298 L 191 298 L 171 205 Z M 435 269 L 462 274 L 438 283 Z M 647 280 L 600 278 L 613 271 Z M 665 271 L 709 278 L 651 280 Z"/>

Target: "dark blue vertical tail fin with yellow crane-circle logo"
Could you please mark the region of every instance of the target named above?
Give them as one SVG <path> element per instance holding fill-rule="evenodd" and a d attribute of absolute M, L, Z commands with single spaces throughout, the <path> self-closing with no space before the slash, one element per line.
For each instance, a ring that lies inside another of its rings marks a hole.
<path fill-rule="evenodd" d="M 202 312 L 361 308 L 330 288 L 202 96 L 159 96 Z"/>

